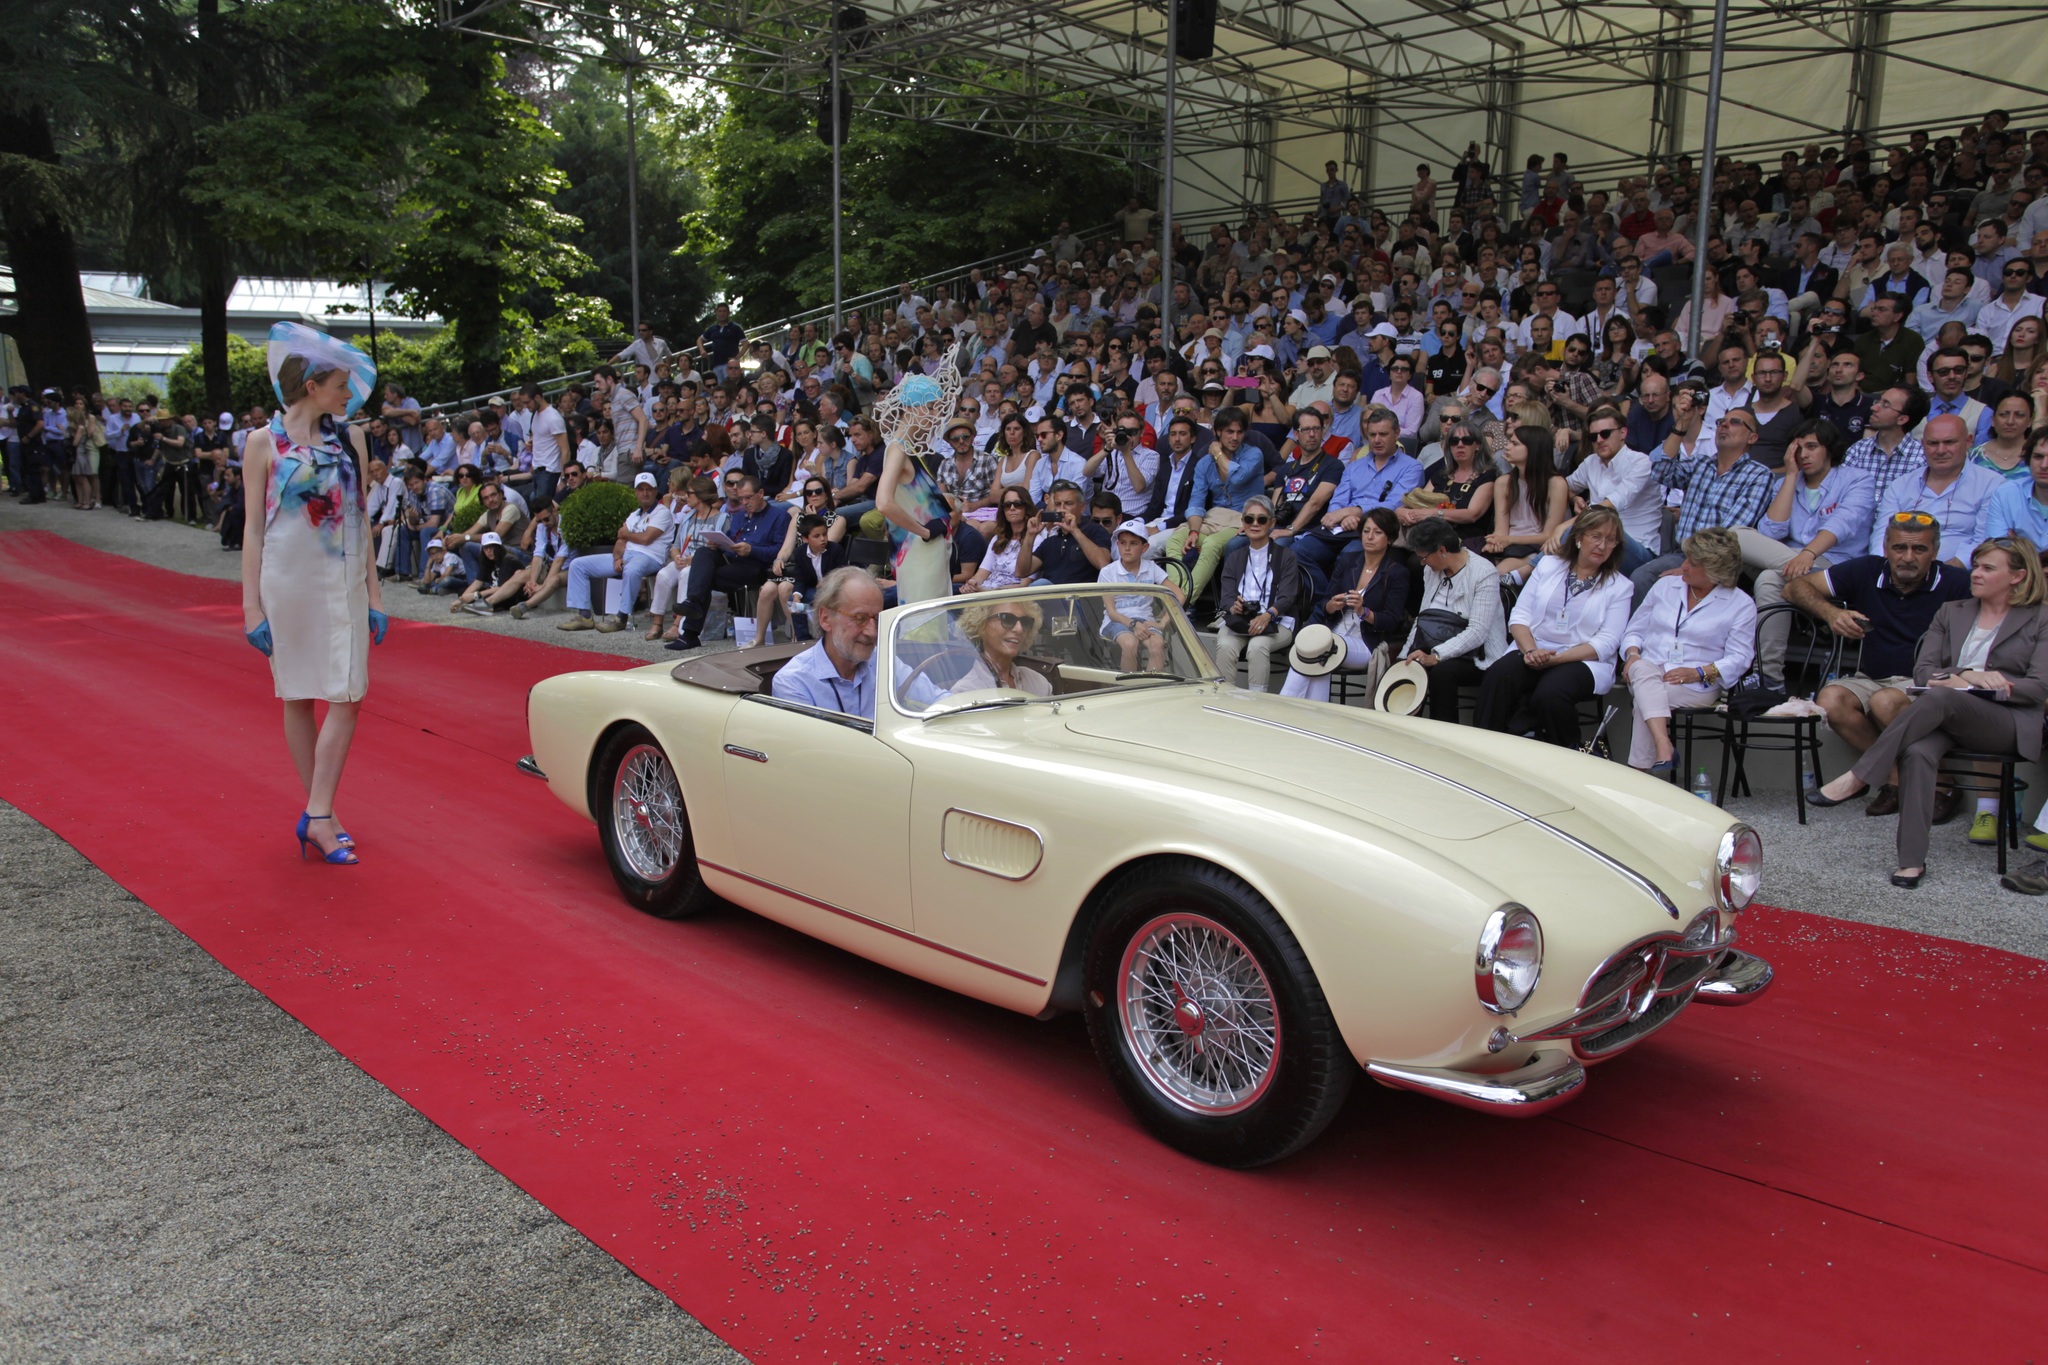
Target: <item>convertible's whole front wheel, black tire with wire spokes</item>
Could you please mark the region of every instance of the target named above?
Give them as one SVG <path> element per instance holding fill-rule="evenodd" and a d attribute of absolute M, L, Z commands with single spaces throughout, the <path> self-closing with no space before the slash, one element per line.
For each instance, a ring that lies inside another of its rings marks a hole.
<path fill-rule="evenodd" d="M 1202 960 L 1178 972 L 1184 952 Z M 1083 980 L 1102 1068 L 1139 1121 L 1190 1156 L 1235 1169 L 1290 1156 L 1352 1091 L 1358 1064 L 1307 956 L 1274 909 L 1221 868 L 1159 862 L 1110 886 Z M 1178 1007 L 1161 1005 L 1161 982 Z M 1141 1050 L 1139 1040 L 1157 1046 Z"/>

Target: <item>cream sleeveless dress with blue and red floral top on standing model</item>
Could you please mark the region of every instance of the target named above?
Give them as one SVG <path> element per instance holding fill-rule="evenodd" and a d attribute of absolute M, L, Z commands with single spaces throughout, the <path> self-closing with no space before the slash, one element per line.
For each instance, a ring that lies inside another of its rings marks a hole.
<path fill-rule="evenodd" d="M 369 518 L 346 438 L 326 426 L 301 446 L 270 420 L 262 612 L 270 677 L 287 702 L 360 702 L 371 688 Z"/>

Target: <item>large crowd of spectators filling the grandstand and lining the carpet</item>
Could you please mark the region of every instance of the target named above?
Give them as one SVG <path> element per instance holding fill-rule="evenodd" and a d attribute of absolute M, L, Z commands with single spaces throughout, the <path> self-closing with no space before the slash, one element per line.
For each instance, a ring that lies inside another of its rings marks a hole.
<path fill-rule="evenodd" d="M 1563 153 L 1516 180 L 1475 147 L 1442 186 L 1417 168 L 1389 215 L 1331 164 L 1300 217 L 1161 244 L 1133 203 L 1120 241 L 1061 223 L 1016 268 L 905 282 L 838 332 L 750 340 L 721 305 L 684 346 L 643 323 L 588 385 L 457 415 L 391 387 L 367 424 L 379 565 L 479 616 L 561 589 L 561 628 L 623 630 L 645 591 L 670 649 L 696 647 L 713 598 L 756 639 L 807 639 L 827 573 L 885 573 L 866 413 L 950 354 L 958 409 L 918 454 L 963 593 L 1116 579 L 1143 534 L 1139 561 L 1251 688 L 1311 624 L 1354 669 L 1423 667 L 1440 718 L 1462 690 L 1475 722 L 1561 745 L 1620 686 L 1628 761 L 1657 774 L 1673 710 L 1739 686 L 1753 712 L 1800 706 L 1794 610 L 1860 643 L 1808 679 L 1855 749 L 1929 686 L 2013 708 L 2034 681 L 1987 669 L 1976 634 L 1956 659 L 1923 636 L 1952 600 L 1993 626 L 2044 610 L 2048 129 L 1993 111 L 1704 180 L 1679 158 L 1593 188 Z M 233 544 L 262 420 L 23 393 L 0 434 L 16 495 L 182 510 Z M 635 493 L 612 544 L 563 542 L 559 499 L 586 481 Z M 1872 812 L 1921 767 L 1872 784 Z M 1960 808 L 1931 774 L 1907 782 L 1927 788 L 1915 819 Z M 1995 802 L 1976 804 L 1989 843 Z M 2048 892 L 2048 868 L 2007 882 Z"/>

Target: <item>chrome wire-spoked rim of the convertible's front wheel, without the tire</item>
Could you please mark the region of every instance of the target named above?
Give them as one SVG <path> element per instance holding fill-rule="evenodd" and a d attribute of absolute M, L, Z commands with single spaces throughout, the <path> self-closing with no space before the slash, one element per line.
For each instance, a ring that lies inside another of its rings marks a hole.
<path fill-rule="evenodd" d="M 1118 968 L 1130 1056 L 1167 1099 L 1196 1113 L 1257 1103 L 1280 1062 L 1272 982 L 1245 943 L 1202 915 L 1147 923 Z"/>

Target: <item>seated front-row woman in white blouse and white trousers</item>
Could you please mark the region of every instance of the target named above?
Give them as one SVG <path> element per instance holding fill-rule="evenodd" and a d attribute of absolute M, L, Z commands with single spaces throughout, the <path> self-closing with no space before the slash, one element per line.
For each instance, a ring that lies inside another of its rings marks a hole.
<path fill-rule="evenodd" d="M 1622 667 L 1634 698 L 1628 765 L 1671 776 L 1671 710 L 1720 700 L 1755 657 L 1757 604 L 1735 587 L 1743 544 L 1710 528 L 1686 542 L 1679 571 L 1657 579 L 1622 632 Z"/>

